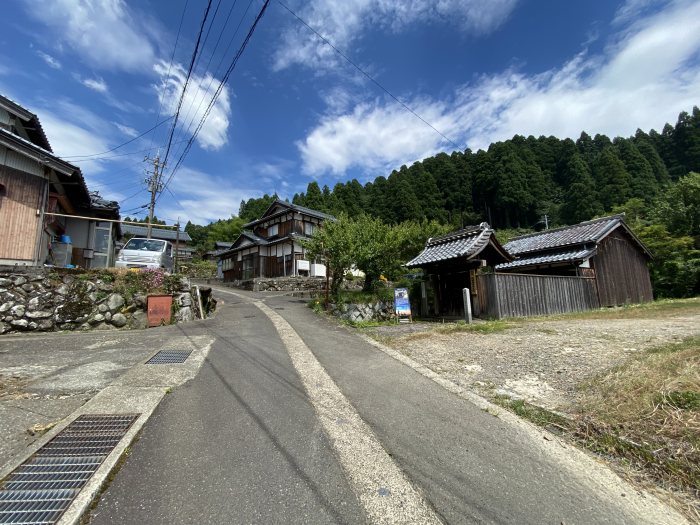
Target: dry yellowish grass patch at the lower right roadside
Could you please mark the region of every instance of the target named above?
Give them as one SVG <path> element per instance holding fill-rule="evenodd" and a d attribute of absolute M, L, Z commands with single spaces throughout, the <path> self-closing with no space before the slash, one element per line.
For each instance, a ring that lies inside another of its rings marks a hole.
<path fill-rule="evenodd" d="M 574 435 L 680 493 L 700 521 L 700 338 L 656 347 L 582 385 Z"/>

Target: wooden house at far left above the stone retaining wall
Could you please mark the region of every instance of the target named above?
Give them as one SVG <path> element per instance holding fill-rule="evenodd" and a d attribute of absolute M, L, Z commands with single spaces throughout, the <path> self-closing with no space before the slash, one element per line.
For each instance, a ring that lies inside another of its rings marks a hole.
<path fill-rule="evenodd" d="M 107 266 L 119 229 L 110 219 L 118 204 L 90 193 L 39 118 L 0 95 L 0 264 Z"/>

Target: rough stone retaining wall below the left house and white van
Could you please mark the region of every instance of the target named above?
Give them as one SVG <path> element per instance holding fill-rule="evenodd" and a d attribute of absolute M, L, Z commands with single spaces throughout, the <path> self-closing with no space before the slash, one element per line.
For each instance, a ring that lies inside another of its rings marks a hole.
<path fill-rule="evenodd" d="M 0 334 L 26 331 L 146 328 L 146 295 L 127 297 L 81 270 L 0 267 Z M 192 298 L 183 280 L 175 321 L 189 321 Z"/>

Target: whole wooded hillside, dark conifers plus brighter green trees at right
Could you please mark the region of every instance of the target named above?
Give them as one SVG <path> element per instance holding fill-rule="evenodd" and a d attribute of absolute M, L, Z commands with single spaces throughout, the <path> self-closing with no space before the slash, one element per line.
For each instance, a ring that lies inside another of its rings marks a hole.
<path fill-rule="evenodd" d="M 655 255 L 657 296 L 700 293 L 700 110 L 679 115 L 661 133 L 578 140 L 522 137 L 487 151 L 440 153 L 364 186 L 320 188 L 293 202 L 335 215 L 362 214 L 388 224 L 437 221 L 458 228 L 487 221 L 501 240 L 513 233 L 573 224 L 609 213 L 626 221 Z M 276 196 L 241 203 L 260 216 Z M 515 230 L 515 231 L 514 231 Z"/>

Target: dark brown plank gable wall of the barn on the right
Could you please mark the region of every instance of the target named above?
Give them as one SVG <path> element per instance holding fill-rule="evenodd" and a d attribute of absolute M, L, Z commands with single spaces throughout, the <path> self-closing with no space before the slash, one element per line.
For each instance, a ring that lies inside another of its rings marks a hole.
<path fill-rule="evenodd" d="M 621 228 L 601 241 L 592 264 L 602 306 L 643 303 L 654 299 L 647 258 Z"/>

